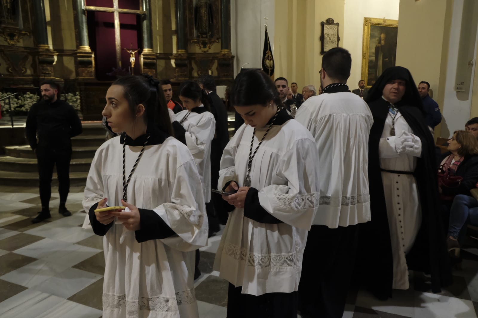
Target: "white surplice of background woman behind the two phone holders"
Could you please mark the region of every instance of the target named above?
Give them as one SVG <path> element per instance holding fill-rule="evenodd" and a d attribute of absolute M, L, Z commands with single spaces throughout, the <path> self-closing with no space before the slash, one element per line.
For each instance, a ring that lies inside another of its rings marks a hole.
<path fill-rule="evenodd" d="M 181 121 L 187 113 L 187 110 L 177 113 L 177 120 Z M 183 122 L 183 127 L 186 130 L 186 145 L 196 162 L 207 203 L 211 201 L 211 143 L 216 132 L 216 119 L 208 111 L 201 114 L 191 112 Z"/>

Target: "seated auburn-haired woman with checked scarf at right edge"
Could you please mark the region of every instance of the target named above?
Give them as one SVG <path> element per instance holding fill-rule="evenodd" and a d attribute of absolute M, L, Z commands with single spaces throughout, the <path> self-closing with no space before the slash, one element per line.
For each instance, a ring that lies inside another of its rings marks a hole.
<path fill-rule="evenodd" d="M 448 197 L 448 200 L 442 200 L 446 211 L 449 211 L 453 197 L 458 194 L 470 194 L 470 190 L 475 188 L 478 182 L 478 142 L 472 134 L 465 130 L 457 130 L 453 137 L 448 140 L 449 152 L 441 157 L 440 166 L 448 164 L 455 170 L 456 176 L 463 177 L 460 185 L 455 188 L 440 186 L 440 194 Z"/>

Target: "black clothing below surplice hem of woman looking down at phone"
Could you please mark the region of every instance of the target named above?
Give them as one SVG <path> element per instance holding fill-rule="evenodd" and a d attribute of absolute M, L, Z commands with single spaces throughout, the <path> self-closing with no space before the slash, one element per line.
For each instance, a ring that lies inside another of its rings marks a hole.
<path fill-rule="evenodd" d="M 297 318 L 297 292 L 254 296 L 229 283 L 227 318 Z"/>

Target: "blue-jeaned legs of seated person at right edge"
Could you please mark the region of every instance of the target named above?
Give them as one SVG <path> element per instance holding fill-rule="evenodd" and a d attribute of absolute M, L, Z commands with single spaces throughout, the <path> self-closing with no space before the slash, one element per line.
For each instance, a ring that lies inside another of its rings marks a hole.
<path fill-rule="evenodd" d="M 478 200 L 464 194 L 458 194 L 450 209 L 450 223 L 446 244 L 451 256 L 460 256 L 460 244 L 465 231 L 463 226 L 471 224 L 478 226 Z"/>

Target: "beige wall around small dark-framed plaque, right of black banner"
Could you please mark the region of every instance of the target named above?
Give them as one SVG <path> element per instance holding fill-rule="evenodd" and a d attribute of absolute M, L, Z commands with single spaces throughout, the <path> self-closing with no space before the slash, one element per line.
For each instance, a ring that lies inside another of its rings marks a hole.
<path fill-rule="evenodd" d="M 328 18 L 340 23 L 339 46 L 342 46 L 344 0 L 275 1 L 274 77 L 297 82 L 299 90 L 305 85 L 320 86 L 320 22 Z"/>

